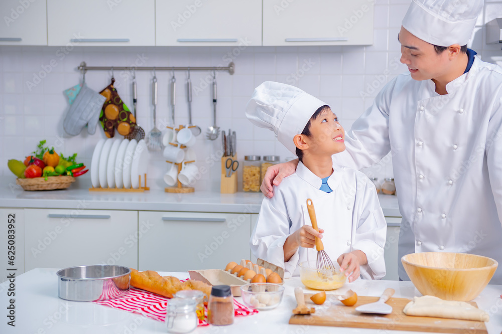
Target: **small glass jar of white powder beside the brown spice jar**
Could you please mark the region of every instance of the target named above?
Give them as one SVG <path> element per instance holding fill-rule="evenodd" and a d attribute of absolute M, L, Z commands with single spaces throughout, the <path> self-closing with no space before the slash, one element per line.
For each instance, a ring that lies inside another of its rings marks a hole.
<path fill-rule="evenodd" d="M 167 303 L 166 324 L 169 333 L 189 333 L 199 324 L 193 299 L 172 298 Z"/>

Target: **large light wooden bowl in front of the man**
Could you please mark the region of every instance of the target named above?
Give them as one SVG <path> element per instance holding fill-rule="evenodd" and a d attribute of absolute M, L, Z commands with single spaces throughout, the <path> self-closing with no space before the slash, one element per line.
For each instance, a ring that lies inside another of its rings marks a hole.
<path fill-rule="evenodd" d="M 476 298 L 498 266 L 485 256 L 440 252 L 408 254 L 401 262 L 423 295 L 460 301 Z"/>

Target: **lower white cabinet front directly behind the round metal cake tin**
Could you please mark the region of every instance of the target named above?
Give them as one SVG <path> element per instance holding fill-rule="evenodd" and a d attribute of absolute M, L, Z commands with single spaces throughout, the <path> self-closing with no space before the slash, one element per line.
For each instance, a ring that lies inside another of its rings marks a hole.
<path fill-rule="evenodd" d="M 26 271 L 85 264 L 138 265 L 138 212 L 82 207 L 25 209 Z"/>

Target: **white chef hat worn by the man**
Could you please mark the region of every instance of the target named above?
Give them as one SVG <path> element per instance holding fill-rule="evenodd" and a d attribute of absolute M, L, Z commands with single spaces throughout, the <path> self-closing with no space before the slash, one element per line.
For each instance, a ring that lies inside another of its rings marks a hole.
<path fill-rule="evenodd" d="M 482 8 L 482 0 L 413 0 L 403 27 L 430 44 L 462 46 L 469 41 Z"/>

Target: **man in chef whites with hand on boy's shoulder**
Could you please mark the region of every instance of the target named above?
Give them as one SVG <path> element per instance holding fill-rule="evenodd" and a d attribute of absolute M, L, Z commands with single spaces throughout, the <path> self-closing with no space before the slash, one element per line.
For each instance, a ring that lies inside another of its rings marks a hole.
<path fill-rule="evenodd" d="M 391 80 L 345 137 L 334 162 L 362 169 L 393 158 L 399 259 L 462 252 L 502 263 L 502 69 L 467 44 L 481 1 L 414 0 L 398 35 L 409 73 Z M 272 196 L 297 161 L 269 168 Z M 399 262 L 399 277 L 409 279 Z M 492 284 L 502 284 L 498 268 Z"/>

